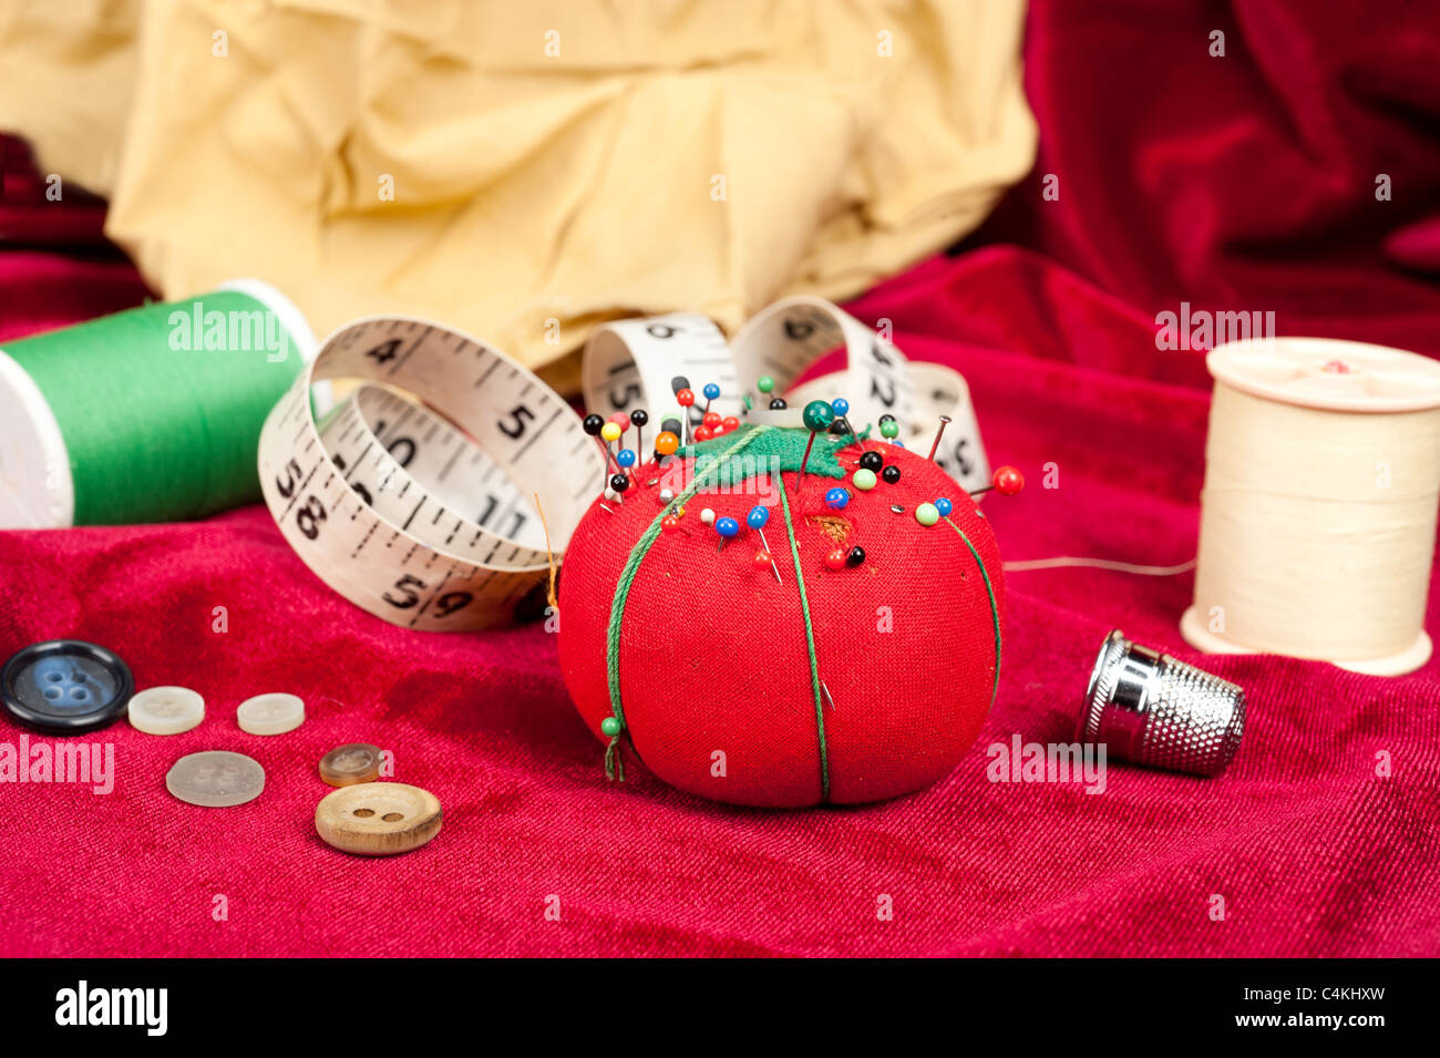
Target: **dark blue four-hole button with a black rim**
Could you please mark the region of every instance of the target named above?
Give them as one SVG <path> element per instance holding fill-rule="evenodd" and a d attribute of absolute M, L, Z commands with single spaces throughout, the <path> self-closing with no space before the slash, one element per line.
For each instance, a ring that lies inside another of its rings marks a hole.
<path fill-rule="evenodd" d="M 134 692 L 130 666 L 82 639 L 32 643 L 0 669 L 0 701 L 10 715 L 55 734 L 115 723 Z"/>

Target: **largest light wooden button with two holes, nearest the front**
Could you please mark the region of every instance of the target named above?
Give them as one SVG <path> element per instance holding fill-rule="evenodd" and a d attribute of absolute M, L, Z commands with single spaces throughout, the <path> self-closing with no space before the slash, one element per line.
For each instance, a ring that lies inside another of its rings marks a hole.
<path fill-rule="evenodd" d="M 315 831 L 341 852 L 393 856 L 441 832 L 441 803 L 406 783 L 346 786 L 315 806 Z"/>

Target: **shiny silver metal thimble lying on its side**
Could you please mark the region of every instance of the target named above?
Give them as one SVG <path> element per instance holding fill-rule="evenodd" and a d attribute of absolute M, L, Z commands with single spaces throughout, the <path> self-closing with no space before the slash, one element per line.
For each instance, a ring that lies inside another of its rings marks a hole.
<path fill-rule="evenodd" d="M 1244 689 L 1115 629 L 1094 661 L 1077 740 L 1135 764 L 1214 777 L 1244 727 Z"/>

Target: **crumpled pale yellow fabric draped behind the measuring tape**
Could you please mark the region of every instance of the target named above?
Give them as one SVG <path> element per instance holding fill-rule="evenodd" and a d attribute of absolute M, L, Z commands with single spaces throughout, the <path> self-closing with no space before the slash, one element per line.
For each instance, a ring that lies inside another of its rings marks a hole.
<path fill-rule="evenodd" d="M 1034 155 L 1017 0 L 0 0 L 0 127 L 166 297 L 255 275 L 531 366 L 727 328 L 975 227 Z"/>

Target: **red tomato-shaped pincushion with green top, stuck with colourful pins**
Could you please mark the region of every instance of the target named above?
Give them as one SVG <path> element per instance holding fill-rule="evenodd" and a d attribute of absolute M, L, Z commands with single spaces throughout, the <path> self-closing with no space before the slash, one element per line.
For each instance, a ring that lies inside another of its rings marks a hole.
<path fill-rule="evenodd" d="M 852 805 L 933 783 L 975 740 L 1004 609 L 988 521 L 884 440 L 861 442 L 881 462 L 867 474 L 861 443 L 821 433 L 801 482 L 809 438 L 742 428 L 635 468 L 624 502 L 580 521 L 560 664 L 612 763 L 737 805 Z M 948 517 L 923 524 L 942 498 Z"/>

